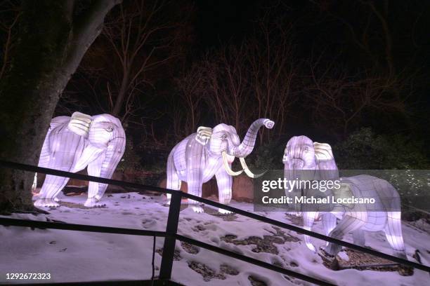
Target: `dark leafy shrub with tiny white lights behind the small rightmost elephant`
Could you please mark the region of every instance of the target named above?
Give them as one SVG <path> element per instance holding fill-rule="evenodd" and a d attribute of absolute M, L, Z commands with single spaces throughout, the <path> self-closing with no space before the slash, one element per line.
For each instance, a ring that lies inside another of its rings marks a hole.
<path fill-rule="evenodd" d="M 426 215 L 430 172 L 421 142 L 403 135 L 376 135 L 370 128 L 361 128 L 336 144 L 333 151 L 341 175 L 367 174 L 390 182 L 400 194 L 403 218 Z M 417 208 L 424 212 L 417 212 Z"/>

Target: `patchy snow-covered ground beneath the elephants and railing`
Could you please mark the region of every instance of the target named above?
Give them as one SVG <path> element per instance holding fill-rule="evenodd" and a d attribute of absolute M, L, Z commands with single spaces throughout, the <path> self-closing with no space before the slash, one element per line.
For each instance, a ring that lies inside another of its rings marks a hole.
<path fill-rule="evenodd" d="M 86 209 L 79 205 L 86 200 L 85 194 L 63 196 L 61 200 L 63 205 L 49 210 L 51 214 L 14 214 L 13 217 L 42 221 L 48 217 L 76 224 L 164 231 L 169 210 L 164 205 L 164 196 L 139 193 L 105 195 L 103 201 L 107 207 L 98 209 Z M 249 203 L 233 202 L 232 205 L 242 210 L 253 210 L 253 205 Z M 285 212 L 261 214 L 289 222 Z M 415 261 L 412 254 L 419 250 L 422 263 L 430 265 L 430 231 L 425 227 L 403 224 L 403 234 L 408 259 Z M 314 229 L 322 233 L 321 223 L 316 222 Z M 318 254 L 306 248 L 302 242 L 303 236 L 237 214 L 219 216 L 210 209 L 195 214 L 190 208 L 185 208 L 181 211 L 178 232 L 337 285 L 430 285 L 430 275 L 419 270 L 415 270 L 412 276 L 401 276 L 397 271 L 332 271 L 323 266 L 323 259 Z M 0 283 L 13 282 L 6 280 L 6 273 L 51 273 L 50 282 L 149 279 L 152 239 L 0 226 Z M 351 236 L 345 239 L 351 241 Z M 163 238 L 157 238 L 157 252 L 161 252 L 163 241 Z M 316 239 L 313 242 L 318 246 L 325 243 Z M 391 254 L 383 233 L 366 233 L 366 245 Z M 183 285 L 263 285 L 258 284 L 259 281 L 266 285 L 310 285 L 199 247 L 180 242 L 176 247 L 178 255 L 174 261 L 172 279 Z M 156 253 L 156 275 L 160 262 L 161 256 Z"/>

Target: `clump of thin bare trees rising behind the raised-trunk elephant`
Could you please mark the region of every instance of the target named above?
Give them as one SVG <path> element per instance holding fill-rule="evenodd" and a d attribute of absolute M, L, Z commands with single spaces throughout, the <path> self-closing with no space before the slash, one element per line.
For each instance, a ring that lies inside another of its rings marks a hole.
<path fill-rule="evenodd" d="M 276 122 L 278 135 L 284 132 L 296 100 L 297 64 L 289 34 L 288 26 L 267 16 L 248 39 L 203 58 L 190 82 L 202 79 L 199 94 L 204 95 L 204 106 L 211 110 L 215 123 L 231 124 L 240 133 L 256 118 L 267 117 Z M 273 132 L 259 132 L 260 143 L 267 142 L 269 134 L 273 136 Z"/>

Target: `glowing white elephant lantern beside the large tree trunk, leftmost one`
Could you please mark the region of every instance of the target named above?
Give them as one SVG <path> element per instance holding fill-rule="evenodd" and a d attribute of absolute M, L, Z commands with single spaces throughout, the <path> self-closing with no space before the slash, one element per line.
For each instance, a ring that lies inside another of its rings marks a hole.
<path fill-rule="evenodd" d="M 89 116 L 74 112 L 52 119 L 41 149 L 39 167 L 67 172 L 87 168 L 90 176 L 110 179 L 124 154 L 126 137 L 121 121 L 109 114 Z M 46 175 L 37 207 L 57 207 L 56 196 L 69 178 Z M 86 207 L 100 207 L 107 184 L 89 182 Z"/>

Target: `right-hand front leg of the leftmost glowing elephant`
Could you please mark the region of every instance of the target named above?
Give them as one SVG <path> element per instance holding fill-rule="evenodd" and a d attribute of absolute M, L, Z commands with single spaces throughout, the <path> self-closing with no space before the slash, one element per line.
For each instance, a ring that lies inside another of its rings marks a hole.
<path fill-rule="evenodd" d="M 91 161 L 86 170 L 88 175 L 94 177 L 100 177 L 101 165 L 103 163 L 105 156 L 101 154 L 96 158 L 96 160 Z M 100 184 L 98 182 L 89 182 L 88 184 L 88 198 L 84 203 L 85 207 L 103 207 L 105 204 L 100 203 L 100 199 L 103 196 L 103 193 L 99 193 L 100 189 L 106 190 L 107 184 Z"/>

